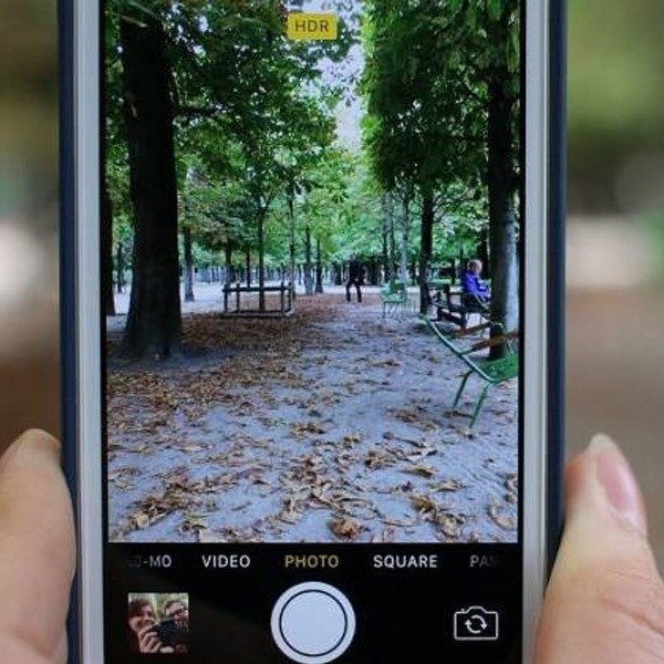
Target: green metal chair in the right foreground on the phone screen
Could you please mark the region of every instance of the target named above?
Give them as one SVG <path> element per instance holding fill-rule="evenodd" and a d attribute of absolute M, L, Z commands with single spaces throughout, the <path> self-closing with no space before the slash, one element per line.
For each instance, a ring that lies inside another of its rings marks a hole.
<path fill-rule="evenodd" d="M 485 341 L 479 341 L 477 343 L 473 343 L 470 345 L 460 346 L 458 343 L 459 339 L 463 339 L 468 335 L 468 333 L 474 333 L 477 331 L 477 328 L 468 329 L 466 331 L 454 332 L 452 334 L 445 334 L 436 322 L 430 320 L 428 317 L 422 317 L 425 321 L 427 328 L 434 333 L 434 335 L 445 344 L 459 360 L 461 360 L 469 370 L 464 374 L 461 378 L 461 383 L 456 393 L 456 397 L 454 400 L 454 404 L 452 406 L 453 409 L 456 409 L 461 394 L 464 393 L 464 388 L 468 382 L 468 378 L 471 375 L 476 375 L 480 377 L 485 385 L 479 394 L 479 398 L 477 400 L 477 404 L 475 405 L 475 411 L 473 412 L 473 417 L 470 419 L 470 428 L 475 426 L 477 422 L 477 417 L 481 411 L 484 402 L 487 397 L 488 391 L 495 385 L 499 385 L 505 381 L 509 381 L 511 378 L 516 378 L 519 375 L 519 352 L 517 349 L 517 340 L 519 338 L 519 333 L 513 332 L 502 332 L 500 334 L 494 335 L 490 339 Z M 496 325 L 495 323 L 484 323 L 481 326 Z M 502 325 L 499 325 L 500 328 Z M 492 346 L 505 345 L 505 355 L 498 360 L 489 360 L 478 359 L 474 356 L 475 353 L 491 349 Z"/>

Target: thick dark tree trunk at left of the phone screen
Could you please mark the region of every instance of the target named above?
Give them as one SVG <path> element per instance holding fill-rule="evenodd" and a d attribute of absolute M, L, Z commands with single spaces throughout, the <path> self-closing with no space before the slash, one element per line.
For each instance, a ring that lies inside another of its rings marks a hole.
<path fill-rule="evenodd" d="M 126 14 L 121 43 L 135 222 L 123 349 L 165 357 L 179 351 L 181 338 L 172 71 L 162 23 L 131 7 Z"/>

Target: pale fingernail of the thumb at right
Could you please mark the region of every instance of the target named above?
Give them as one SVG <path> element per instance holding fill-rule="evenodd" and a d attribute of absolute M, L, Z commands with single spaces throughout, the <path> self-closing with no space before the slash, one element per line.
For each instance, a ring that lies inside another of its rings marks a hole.
<path fill-rule="evenodd" d="M 606 435 L 598 434 L 590 443 L 595 473 L 613 511 L 630 526 L 647 531 L 641 489 L 618 445 Z"/>

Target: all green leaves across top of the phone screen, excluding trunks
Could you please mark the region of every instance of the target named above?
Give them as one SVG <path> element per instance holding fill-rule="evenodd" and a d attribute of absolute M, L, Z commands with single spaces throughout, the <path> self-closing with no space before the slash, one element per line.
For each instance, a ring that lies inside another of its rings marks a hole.
<path fill-rule="evenodd" d="M 106 181 L 116 238 L 131 242 L 133 226 L 117 50 L 131 10 L 158 17 L 169 39 L 179 225 L 191 231 L 196 266 L 222 262 L 227 250 L 236 263 L 260 250 L 266 266 L 288 266 L 291 242 L 302 262 L 307 229 L 326 262 L 370 259 L 388 239 L 402 241 L 405 226 L 414 260 L 426 191 L 436 201 L 434 261 L 474 251 L 488 224 L 496 62 L 509 63 L 505 84 L 518 101 L 518 31 L 496 45 L 491 25 L 506 11 L 517 21 L 516 4 L 367 0 L 360 10 L 335 0 L 341 39 L 307 43 L 286 39 L 281 2 L 112 0 Z M 354 80 L 330 82 L 323 63 L 343 60 L 360 34 L 366 66 L 359 89 Z M 353 152 L 335 143 L 335 112 L 357 93 L 364 143 Z"/>

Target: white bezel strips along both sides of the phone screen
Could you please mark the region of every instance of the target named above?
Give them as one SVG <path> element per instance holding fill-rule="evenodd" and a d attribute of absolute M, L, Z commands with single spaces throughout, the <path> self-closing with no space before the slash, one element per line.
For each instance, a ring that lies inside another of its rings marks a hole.
<path fill-rule="evenodd" d="M 532 661 L 547 568 L 547 216 L 549 0 L 526 2 L 526 248 L 523 321 L 523 662 Z M 73 0 L 76 206 L 79 647 L 83 664 L 104 652 L 101 305 L 100 15 Z"/>

